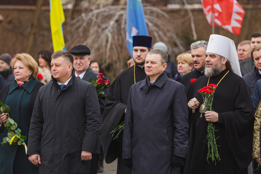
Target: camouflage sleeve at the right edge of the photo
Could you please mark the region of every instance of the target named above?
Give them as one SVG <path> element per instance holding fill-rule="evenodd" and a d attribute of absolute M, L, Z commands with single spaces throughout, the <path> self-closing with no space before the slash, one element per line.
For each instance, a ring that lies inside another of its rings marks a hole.
<path fill-rule="evenodd" d="M 255 123 L 254 123 L 254 137 L 253 137 L 253 159 L 260 158 L 259 148 L 259 133 L 260 133 L 260 121 L 261 121 L 261 105 L 259 103 L 258 108 L 255 112 Z"/>

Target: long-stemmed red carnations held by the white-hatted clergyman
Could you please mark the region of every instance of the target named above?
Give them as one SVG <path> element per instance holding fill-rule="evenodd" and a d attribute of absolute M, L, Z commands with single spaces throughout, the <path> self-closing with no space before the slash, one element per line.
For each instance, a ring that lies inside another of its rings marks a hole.
<path fill-rule="evenodd" d="M 201 88 L 197 92 L 199 92 L 204 100 L 204 103 L 200 106 L 200 117 L 202 117 L 202 113 L 205 111 L 213 111 L 212 109 L 212 102 L 213 102 L 213 96 L 215 93 L 215 90 L 218 86 L 215 84 L 209 84 L 209 86 L 205 86 L 204 88 Z M 207 144 L 208 144 L 208 154 L 206 157 L 206 160 L 208 161 L 209 158 L 212 159 L 212 162 L 218 160 L 220 161 L 220 156 L 218 154 L 218 148 L 216 144 L 216 138 L 215 137 L 215 125 L 213 125 L 212 122 L 209 122 L 208 128 L 208 135 L 207 135 Z"/>

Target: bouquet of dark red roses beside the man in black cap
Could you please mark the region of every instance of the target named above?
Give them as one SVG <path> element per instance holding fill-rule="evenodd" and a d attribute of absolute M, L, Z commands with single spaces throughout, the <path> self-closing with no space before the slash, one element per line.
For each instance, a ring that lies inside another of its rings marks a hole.
<path fill-rule="evenodd" d="M 102 96 L 104 96 L 104 92 L 102 91 L 104 87 L 108 87 L 109 84 L 110 84 L 110 81 L 109 80 L 104 80 L 102 79 L 103 77 L 103 74 L 102 73 L 99 73 L 97 75 L 97 80 L 96 82 L 92 79 L 92 77 L 89 78 L 88 82 L 92 83 L 96 90 L 97 90 L 97 96 L 98 96 L 98 99 L 101 98 Z"/>

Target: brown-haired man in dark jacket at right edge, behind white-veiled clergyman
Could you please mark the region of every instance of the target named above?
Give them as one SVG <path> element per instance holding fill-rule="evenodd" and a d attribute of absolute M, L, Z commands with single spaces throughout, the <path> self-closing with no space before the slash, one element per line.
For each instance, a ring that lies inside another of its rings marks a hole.
<path fill-rule="evenodd" d="M 261 44 L 255 46 L 252 50 L 253 60 L 255 63 L 254 70 L 243 76 L 243 79 L 246 81 L 247 85 L 251 90 L 251 95 L 253 95 L 256 82 L 261 79 L 261 58 L 259 58 L 261 52 L 260 48 Z"/>

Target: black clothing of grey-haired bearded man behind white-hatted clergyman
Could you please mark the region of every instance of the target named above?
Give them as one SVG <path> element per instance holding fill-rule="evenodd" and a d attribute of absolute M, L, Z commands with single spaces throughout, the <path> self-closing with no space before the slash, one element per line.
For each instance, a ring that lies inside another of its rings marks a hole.
<path fill-rule="evenodd" d="M 187 74 L 185 74 L 185 75 L 183 75 L 181 78 L 180 78 L 180 80 L 179 80 L 179 82 L 182 84 L 182 85 L 184 85 L 185 86 L 185 88 L 186 88 L 186 91 L 188 92 L 189 91 L 189 88 L 191 87 L 191 82 L 190 82 L 190 80 L 191 79 L 198 79 L 198 78 L 200 78 L 200 77 L 202 77 L 202 76 L 204 76 L 205 74 L 204 74 L 204 72 L 203 73 L 201 73 L 200 71 L 191 71 L 191 72 L 189 72 L 189 73 L 187 73 Z"/>

